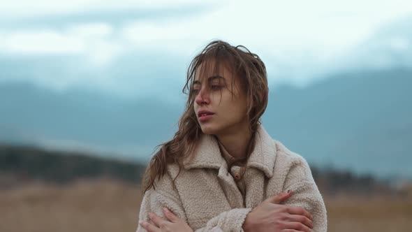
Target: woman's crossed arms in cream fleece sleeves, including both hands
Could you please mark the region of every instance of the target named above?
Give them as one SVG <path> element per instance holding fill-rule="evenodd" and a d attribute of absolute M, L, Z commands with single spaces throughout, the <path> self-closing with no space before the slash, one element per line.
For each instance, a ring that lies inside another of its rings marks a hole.
<path fill-rule="evenodd" d="M 297 176 L 305 178 L 296 180 Z M 306 161 L 290 168 L 285 187 L 293 191 L 267 198 L 253 209 L 221 212 L 196 232 L 327 231 L 325 205 Z M 175 191 L 147 191 L 142 200 L 140 220 L 137 232 L 193 231 L 186 223 L 182 203 Z"/>

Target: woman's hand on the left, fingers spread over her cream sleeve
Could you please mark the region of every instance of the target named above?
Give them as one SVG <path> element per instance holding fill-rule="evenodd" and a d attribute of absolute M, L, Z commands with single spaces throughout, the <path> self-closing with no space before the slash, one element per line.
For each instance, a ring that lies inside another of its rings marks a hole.
<path fill-rule="evenodd" d="M 141 221 L 140 226 L 149 232 L 193 232 L 186 222 L 170 212 L 168 208 L 163 208 L 163 214 L 168 220 L 162 219 L 153 212 L 149 212 L 151 222 Z"/>

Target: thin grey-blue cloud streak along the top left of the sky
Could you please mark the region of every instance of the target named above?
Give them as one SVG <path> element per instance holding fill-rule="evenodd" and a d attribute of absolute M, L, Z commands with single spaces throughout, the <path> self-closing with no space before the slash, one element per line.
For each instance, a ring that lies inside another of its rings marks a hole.
<path fill-rule="evenodd" d="M 105 6 L 105 5 L 104 5 Z M 142 8 L 136 6 L 124 8 L 84 8 L 77 11 L 61 13 L 52 12 L 43 15 L 22 15 L 22 17 L 3 17 L 0 26 L 3 29 L 54 29 L 71 27 L 73 24 L 94 24 L 104 22 L 112 27 L 122 27 L 122 24 L 135 20 L 159 22 L 178 17 L 191 17 L 213 10 L 214 5 L 205 3 L 188 4 L 187 6 L 162 6 L 159 8 Z"/>

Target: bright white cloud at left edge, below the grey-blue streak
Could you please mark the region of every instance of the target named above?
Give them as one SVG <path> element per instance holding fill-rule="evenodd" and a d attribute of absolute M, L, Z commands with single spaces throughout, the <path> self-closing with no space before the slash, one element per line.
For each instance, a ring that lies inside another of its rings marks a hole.
<path fill-rule="evenodd" d="M 79 55 L 90 65 L 105 66 L 122 53 L 109 24 L 80 24 L 62 31 L 51 29 L 0 34 L 0 54 L 20 56 Z"/>

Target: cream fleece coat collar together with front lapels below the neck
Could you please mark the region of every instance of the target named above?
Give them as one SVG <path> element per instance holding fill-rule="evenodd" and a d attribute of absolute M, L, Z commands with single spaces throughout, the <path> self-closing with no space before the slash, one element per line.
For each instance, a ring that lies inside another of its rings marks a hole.
<path fill-rule="evenodd" d="M 185 169 L 214 168 L 218 169 L 218 180 L 221 184 L 228 203 L 232 208 L 254 208 L 265 200 L 267 178 L 273 176 L 274 161 L 276 159 L 276 147 L 270 135 L 258 126 L 255 136 L 255 148 L 247 161 L 247 169 L 244 175 L 246 184 L 245 201 L 240 193 L 235 180 L 228 172 L 228 164 L 221 156 L 219 143 L 214 136 L 203 135 L 200 137 L 191 156 L 183 160 Z M 246 205 L 244 205 L 244 202 Z"/>

